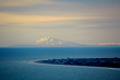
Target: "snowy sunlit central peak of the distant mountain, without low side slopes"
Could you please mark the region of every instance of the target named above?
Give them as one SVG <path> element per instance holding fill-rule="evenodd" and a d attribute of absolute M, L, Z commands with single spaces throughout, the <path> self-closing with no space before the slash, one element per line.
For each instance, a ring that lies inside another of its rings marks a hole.
<path fill-rule="evenodd" d="M 74 46 L 79 46 L 79 44 L 75 44 L 72 42 L 60 41 L 60 39 L 53 38 L 53 37 L 41 37 L 39 39 L 36 39 L 31 45 L 34 45 L 37 47 L 74 47 Z"/>

